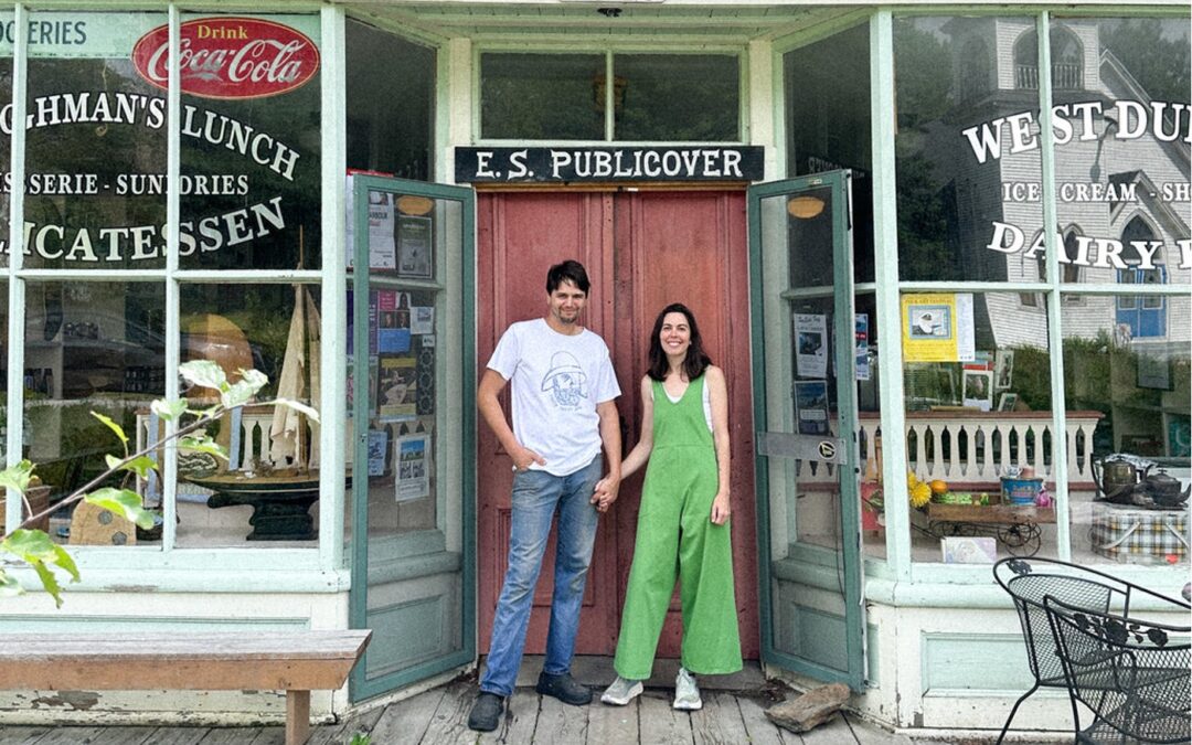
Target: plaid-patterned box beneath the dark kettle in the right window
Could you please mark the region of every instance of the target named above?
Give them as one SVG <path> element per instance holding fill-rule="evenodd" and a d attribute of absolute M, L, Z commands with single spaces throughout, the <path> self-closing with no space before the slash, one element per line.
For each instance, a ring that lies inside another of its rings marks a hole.
<path fill-rule="evenodd" d="M 1093 551 L 1120 564 L 1188 560 L 1188 510 L 1093 503 Z"/>

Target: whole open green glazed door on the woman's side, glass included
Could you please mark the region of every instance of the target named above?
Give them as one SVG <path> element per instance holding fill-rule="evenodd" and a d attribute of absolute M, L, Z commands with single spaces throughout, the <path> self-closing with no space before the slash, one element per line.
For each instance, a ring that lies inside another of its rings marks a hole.
<path fill-rule="evenodd" d="M 750 188 L 762 658 L 865 682 L 848 170 Z"/>

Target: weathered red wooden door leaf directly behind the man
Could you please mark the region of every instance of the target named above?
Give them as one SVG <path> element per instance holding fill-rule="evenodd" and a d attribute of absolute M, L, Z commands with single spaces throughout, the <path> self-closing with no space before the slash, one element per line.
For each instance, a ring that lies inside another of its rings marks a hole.
<path fill-rule="evenodd" d="M 477 371 L 483 374 L 501 334 L 515 321 L 541 317 L 546 309 L 546 271 L 564 259 L 577 259 L 592 281 L 584 323 L 608 341 L 611 328 L 611 200 L 608 194 L 499 193 L 480 194 L 479 325 Z M 623 386 L 623 379 L 622 379 Z M 508 414 L 509 389 L 502 391 Z M 509 551 L 513 470 L 492 432 L 478 427 L 478 550 L 480 573 L 480 652 L 489 650 L 492 615 L 501 594 Z M 578 654 L 606 654 L 616 641 L 615 530 L 603 517 L 581 610 Z M 526 652 L 540 654 L 546 644 L 554 576 L 554 530 L 534 592 Z M 613 598 L 609 602 L 607 598 Z"/>

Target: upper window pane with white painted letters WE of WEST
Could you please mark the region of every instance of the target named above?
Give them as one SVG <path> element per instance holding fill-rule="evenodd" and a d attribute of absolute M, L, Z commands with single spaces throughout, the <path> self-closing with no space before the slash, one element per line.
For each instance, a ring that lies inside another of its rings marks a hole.
<path fill-rule="evenodd" d="M 895 19 L 901 279 L 1036 281 L 1038 101 L 1014 63 L 1033 29 L 1028 17 Z"/>

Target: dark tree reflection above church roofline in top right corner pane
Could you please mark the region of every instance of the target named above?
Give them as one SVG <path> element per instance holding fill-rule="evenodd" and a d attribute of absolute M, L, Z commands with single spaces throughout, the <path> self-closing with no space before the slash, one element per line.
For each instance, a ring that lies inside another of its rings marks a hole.
<path fill-rule="evenodd" d="M 1165 38 L 1165 23 L 1181 24 L 1185 33 Z M 1156 101 L 1187 101 L 1192 48 L 1188 46 L 1187 19 L 1163 21 L 1159 18 L 1106 20 L 1100 24 L 1101 45 L 1113 52 L 1130 74 Z"/>

